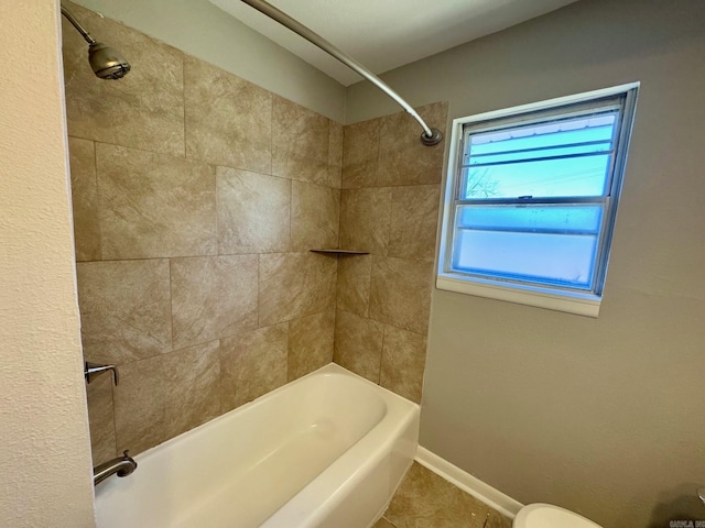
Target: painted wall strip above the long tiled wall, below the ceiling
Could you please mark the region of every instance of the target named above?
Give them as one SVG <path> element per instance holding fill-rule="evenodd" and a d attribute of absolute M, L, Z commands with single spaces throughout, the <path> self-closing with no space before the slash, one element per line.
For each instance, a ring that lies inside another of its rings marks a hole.
<path fill-rule="evenodd" d="M 78 3 L 343 122 L 343 85 L 208 0 L 80 0 Z M 107 40 L 88 24 L 84 25 L 96 40 Z"/>

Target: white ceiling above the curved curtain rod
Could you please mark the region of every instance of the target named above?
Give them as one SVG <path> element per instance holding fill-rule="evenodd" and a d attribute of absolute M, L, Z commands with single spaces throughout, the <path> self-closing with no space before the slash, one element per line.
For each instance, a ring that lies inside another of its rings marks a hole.
<path fill-rule="evenodd" d="M 576 0 L 269 0 L 376 74 Z M 345 86 L 357 74 L 240 0 L 210 0 Z"/>

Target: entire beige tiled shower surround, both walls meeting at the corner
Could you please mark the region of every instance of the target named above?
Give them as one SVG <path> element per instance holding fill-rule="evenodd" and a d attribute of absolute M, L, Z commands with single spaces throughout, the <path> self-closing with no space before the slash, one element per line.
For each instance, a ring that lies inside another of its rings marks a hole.
<path fill-rule="evenodd" d="M 420 402 L 443 144 L 403 112 L 343 128 L 69 7 L 132 64 L 97 79 L 64 21 L 84 355 L 120 370 L 88 385 L 94 461 L 334 359 Z M 445 130 L 445 105 L 420 111 Z M 370 255 L 308 252 L 338 243 Z"/>

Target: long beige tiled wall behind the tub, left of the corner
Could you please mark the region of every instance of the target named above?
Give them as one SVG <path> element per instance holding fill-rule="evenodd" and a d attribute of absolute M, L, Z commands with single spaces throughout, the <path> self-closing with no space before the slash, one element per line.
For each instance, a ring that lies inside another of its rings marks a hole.
<path fill-rule="evenodd" d="M 73 6 L 132 72 L 64 65 L 94 460 L 138 453 L 333 359 L 343 127 Z M 304 133 L 305 132 L 305 133 Z"/>

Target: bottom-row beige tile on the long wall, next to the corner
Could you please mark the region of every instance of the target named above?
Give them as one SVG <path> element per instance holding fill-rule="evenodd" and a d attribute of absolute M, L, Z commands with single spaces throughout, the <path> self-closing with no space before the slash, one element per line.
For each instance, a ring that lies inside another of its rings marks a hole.
<path fill-rule="evenodd" d="M 289 321 L 288 381 L 296 380 L 333 361 L 334 333 L 334 310 Z"/>

